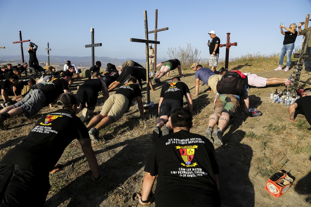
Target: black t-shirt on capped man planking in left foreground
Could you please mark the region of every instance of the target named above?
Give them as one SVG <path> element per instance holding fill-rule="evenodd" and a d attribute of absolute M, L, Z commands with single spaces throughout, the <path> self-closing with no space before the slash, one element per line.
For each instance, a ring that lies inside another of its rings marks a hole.
<path fill-rule="evenodd" d="M 49 171 L 74 139 L 89 138 L 86 126 L 70 111 L 60 109 L 39 119 L 29 135 L 9 150 L 1 163 Z"/>

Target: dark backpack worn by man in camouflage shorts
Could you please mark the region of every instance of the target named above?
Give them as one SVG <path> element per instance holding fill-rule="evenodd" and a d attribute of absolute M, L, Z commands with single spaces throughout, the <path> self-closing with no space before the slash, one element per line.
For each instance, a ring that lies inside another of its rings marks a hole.
<path fill-rule="evenodd" d="M 244 87 L 244 79 L 237 72 L 227 72 L 216 86 L 219 94 L 232 95 L 241 95 Z"/>

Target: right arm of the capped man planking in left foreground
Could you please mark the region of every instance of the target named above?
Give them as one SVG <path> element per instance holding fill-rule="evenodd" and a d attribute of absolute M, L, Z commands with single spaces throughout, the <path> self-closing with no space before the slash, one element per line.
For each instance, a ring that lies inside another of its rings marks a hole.
<path fill-rule="evenodd" d="M 81 138 L 79 139 L 79 143 L 81 145 L 82 151 L 86 156 L 87 162 L 89 163 L 90 169 L 93 174 L 93 178 L 99 178 L 99 170 L 98 164 L 95 156 L 95 152 L 92 149 L 91 139 L 88 138 Z"/>

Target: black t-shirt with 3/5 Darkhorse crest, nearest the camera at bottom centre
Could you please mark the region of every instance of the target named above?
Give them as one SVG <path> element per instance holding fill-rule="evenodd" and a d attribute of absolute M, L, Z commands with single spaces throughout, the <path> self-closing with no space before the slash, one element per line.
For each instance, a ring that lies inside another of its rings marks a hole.
<path fill-rule="evenodd" d="M 167 197 L 176 203 L 175 206 L 187 206 L 183 205 L 184 202 L 191 203 L 193 200 L 201 205 L 190 206 L 207 206 L 210 201 L 195 199 L 206 195 L 219 200 L 214 176 L 219 174 L 219 169 L 214 146 L 199 134 L 180 130 L 160 137 L 151 148 L 144 170 L 151 176 L 158 175 L 155 192 L 157 206 L 159 202 L 165 203 Z M 193 194 L 194 199 L 184 199 L 183 190 L 198 194 Z"/>

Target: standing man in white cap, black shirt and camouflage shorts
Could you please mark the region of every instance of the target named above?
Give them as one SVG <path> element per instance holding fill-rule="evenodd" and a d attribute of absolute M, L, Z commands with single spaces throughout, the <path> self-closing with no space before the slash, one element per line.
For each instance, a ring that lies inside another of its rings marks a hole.
<path fill-rule="evenodd" d="M 215 68 L 218 65 L 220 39 L 216 37 L 214 30 L 211 30 L 208 34 L 210 35 L 210 38 L 212 38 L 211 43 L 207 43 L 207 46 L 210 48 L 209 65 L 211 70 L 215 71 Z"/>

